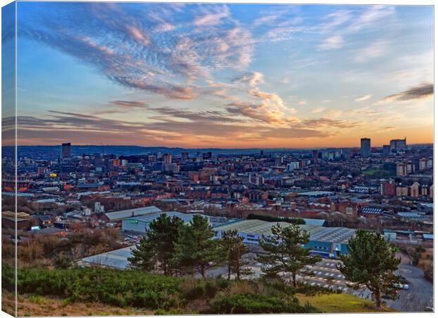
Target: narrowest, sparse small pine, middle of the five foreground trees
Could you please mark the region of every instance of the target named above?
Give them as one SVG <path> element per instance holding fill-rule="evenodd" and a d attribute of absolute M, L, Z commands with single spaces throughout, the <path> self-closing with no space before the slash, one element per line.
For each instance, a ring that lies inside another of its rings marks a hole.
<path fill-rule="evenodd" d="M 249 252 L 248 247 L 243 242 L 243 237 L 239 236 L 237 230 L 227 230 L 222 233 L 222 248 L 228 264 L 228 279 L 231 273 L 236 274 L 237 281 L 241 275 L 250 275 L 251 269 L 245 267 L 247 262 L 243 256 Z"/>

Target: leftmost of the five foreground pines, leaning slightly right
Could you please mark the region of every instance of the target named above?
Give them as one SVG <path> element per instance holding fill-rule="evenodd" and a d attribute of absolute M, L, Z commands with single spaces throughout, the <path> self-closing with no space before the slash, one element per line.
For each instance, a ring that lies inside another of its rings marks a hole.
<path fill-rule="evenodd" d="M 129 258 L 131 266 L 150 270 L 158 264 L 165 275 L 172 275 L 174 271 L 171 261 L 175 252 L 174 245 L 178 239 L 178 230 L 182 225 L 181 218 L 176 216 L 171 218 L 165 213 L 150 222 L 146 235 L 133 250 L 133 257 Z"/>

